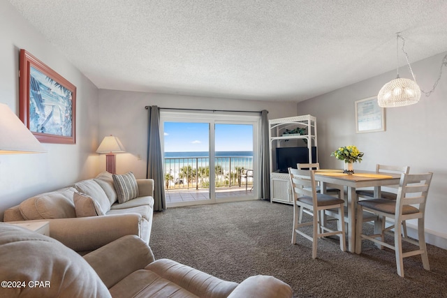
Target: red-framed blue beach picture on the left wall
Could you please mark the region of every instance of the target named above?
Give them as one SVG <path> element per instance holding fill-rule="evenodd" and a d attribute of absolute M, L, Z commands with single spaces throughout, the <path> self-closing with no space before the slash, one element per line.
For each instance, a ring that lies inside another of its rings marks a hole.
<path fill-rule="evenodd" d="M 76 87 L 20 50 L 20 119 L 40 142 L 75 144 Z"/>

